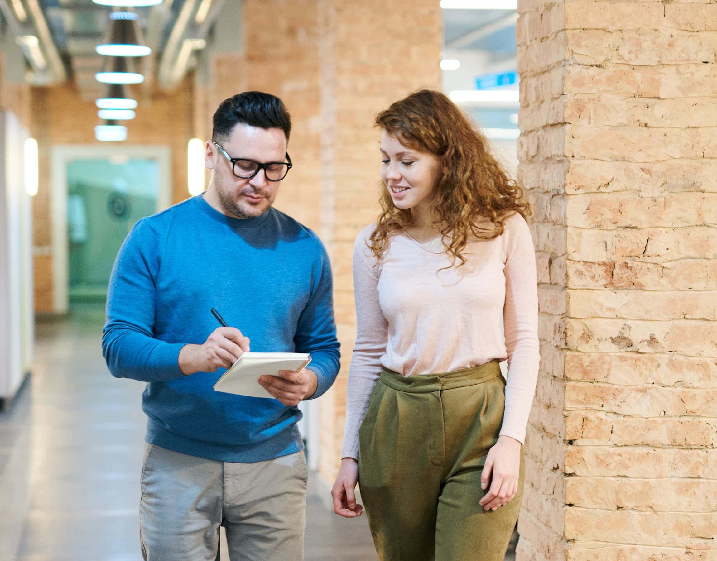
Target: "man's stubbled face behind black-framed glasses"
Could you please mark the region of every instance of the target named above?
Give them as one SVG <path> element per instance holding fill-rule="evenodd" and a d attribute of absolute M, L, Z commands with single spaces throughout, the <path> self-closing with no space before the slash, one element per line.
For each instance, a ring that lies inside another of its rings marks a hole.
<path fill-rule="evenodd" d="M 260 163 L 285 161 L 286 137 L 280 128 L 264 129 L 237 123 L 228 139 L 217 141 L 232 158 L 247 158 Z M 232 163 L 212 142 L 206 143 L 205 165 L 214 170 L 212 183 L 228 216 L 255 218 L 262 216 L 274 203 L 281 181 L 267 181 L 265 170 L 250 179 L 234 176 Z"/>

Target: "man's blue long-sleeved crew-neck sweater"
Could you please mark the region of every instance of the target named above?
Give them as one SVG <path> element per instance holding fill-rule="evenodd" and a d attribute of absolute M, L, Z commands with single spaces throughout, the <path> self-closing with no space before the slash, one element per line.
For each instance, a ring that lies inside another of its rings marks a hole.
<path fill-rule="evenodd" d="M 238 220 L 201 195 L 138 221 L 115 261 L 102 348 L 117 378 L 148 382 L 146 440 L 191 456 L 255 462 L 303 448 L 301 412 L 214 391 L 224 373 L 185 376 L 179 350 L 219 327 L 216 307 L 259 353 L 310 353 L 313 398 L 338 374 L 331 267 L 308 228 L 271 208 Z"/>

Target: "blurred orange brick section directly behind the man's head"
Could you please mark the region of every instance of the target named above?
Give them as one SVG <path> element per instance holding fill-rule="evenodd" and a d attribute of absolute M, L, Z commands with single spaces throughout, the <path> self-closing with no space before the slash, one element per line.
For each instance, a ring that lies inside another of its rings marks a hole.
<path fill-rule="evenodd" d="M 206 98 L 207 135 L 227 97 L 259 90 L 282 99 L 292 119 L 288 151 L 294 167 L 275 206 L 315 231 L 321 181 L 317 18 L 318 0 L 227 2 L 209 54 L 209 92 L 199 91 Z"/>

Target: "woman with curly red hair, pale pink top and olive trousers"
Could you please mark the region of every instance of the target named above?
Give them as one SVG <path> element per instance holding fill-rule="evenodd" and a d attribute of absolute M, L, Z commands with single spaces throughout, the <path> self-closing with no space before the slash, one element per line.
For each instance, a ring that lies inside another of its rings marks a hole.
<path fill-rule="evenodd" d="M 540 360 L 530 209 L 442 93 L 415 92 L 376 125 L 383 211 L 353 253 L 334 509 L 361 515 L 359 481 L 379 560 L 503 560 Z"/>

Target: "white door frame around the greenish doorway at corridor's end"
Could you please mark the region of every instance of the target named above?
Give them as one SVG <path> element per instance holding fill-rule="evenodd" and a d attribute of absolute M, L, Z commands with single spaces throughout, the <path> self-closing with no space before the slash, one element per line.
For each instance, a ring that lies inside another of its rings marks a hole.
<path fill-rule="evenodd" d="M 156 160 L 158 165 L 157 211 L 171 204 L 171 149 L 162 145 L 95 145 L 65 144 L 52 148 L 52 311 L 65 314 L 69 309 L 68 247 L 67 247 L 67 163 L 127 156 Z"/>

